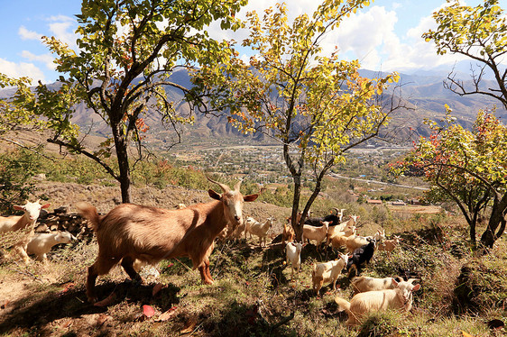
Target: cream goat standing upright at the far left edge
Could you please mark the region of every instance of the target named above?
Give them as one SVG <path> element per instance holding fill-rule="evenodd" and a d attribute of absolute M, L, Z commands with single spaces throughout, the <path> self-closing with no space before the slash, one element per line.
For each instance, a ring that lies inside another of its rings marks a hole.
<path fill-rule="evenodd" d="M 26 245 L 32 239 L 35 231 L 35 223 L 41 214 L 42 208 L 48 208 L 51 204 L 40 204 L 40 199 L 34 203 L 29 201 L 25 205 L 14 205 L 14 209 L 23 211 L 23 215 L 0 216 L 0 232 L 14 232 L 29 229 L 23 238 L 13 246 L 14 251 L 23 259 L 25 263 L 30 261 L 26 254 Z"/>

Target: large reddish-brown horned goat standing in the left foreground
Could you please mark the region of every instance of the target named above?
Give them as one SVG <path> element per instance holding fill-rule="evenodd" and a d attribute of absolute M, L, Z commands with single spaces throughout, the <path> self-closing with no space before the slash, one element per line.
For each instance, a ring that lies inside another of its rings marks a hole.
<path fill-rule="evenodd" d="M 194 269 L 199 270 L 202 281 L 213 283 L 209 272 L 213 241 L 226 225 L 232 226 L 234 231 L 243 223 L 243 202 L 253 201 L 258 195 L 243 196 L 239 191 L 241 181 L 231 190 L 225 184 L 207 179 L 224 193 L 220 195 L 209 189 L 209 196 L 216 201 L 183 209 L 123 204 L 106 215 L 99 215 L 93 205 L 77 205 L 79 212 L 91 223 L 98 242 L 97 260 L 88 268 L 88 301 L 97 301 L 97 277 L 107 274 L 120 262 L 130 278 L 142 281 L 133 268 L 136 259 L 154 264 L 188 256 Z"/>

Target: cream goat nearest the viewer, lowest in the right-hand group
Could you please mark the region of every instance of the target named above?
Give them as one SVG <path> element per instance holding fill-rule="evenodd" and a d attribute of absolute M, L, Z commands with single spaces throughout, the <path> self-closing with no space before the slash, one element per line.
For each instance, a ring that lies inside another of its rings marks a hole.
<path fill-rule="evenodd" d="M 392 278 L 393 289 L 367 291 L 352 297 L 348 302 L 346 299 L 335 298 L 340 311 L 346 311 L 348 315 L 347 325 L 355 325 L 369 312 L 383 311 L 388 309 L 399 309 L 409 312 L 412 308 L 412 292 L 419 290 L 420 285 L 412 285 L 412 282 L 397 282 Z"/>

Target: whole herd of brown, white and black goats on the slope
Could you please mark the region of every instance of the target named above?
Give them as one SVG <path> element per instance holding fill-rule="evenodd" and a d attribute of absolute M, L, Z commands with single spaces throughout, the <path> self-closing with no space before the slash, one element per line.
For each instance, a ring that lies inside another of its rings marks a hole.
<path fill-rule="evenodd" d="M 198 269 L 205 284 L 212 284 L 209 271 L 209 255 L 218 236 L 240 237 L 244 232 L 250 237 L 259 237 L 259 244 L 266 245 L 268 230 L 272 219 L 265 223 L 256 222 L 253 218 L 243 218 L 243 203 L 254 201 L 258 195 L 243 196 L 239 190 L 241 181 L 233 189 L 226 184 L 210 178 L 210 182 L 221 188 L 222 194 L 212 189 L 208 194 L 214 201 L 206 204 L 180 206 L 179 209 L 162 209 L 151 206 L 122 204 L 117 205 L 108 214 L 100 215 L 97 208 L 88 203 L 78 203 L 76 207 L 96 233 L 98 243 L 97 260 L 88 268 L 87 296 L 88 301 L 95 303 L 97 294 L 95 283 L 97 277 L 106 275 L 118 263 L 132 279 L 141 281 L 138 274 L 143 264 L 155 264 L 160 260 L 187 256 L 192 260 L 194 269 Z M 42 208 L 41 205 L 27 202 L 23 206 L 14 206 L 23 210 L 20 216 L 0 216 L 0 232 L 25 230 L 21 239 L 14 243 L 13 250 L 25 262 L 28 254 L 45 260 L 46 253 L 57 243 L 69 242 L 73 236 L 69 232 L 34 233 L 35 223 Z M 348 276 L 355 271 L 352 280 L 355 296 L 350 302 L 336 297 L 336 303 L 348 314 L 347 324 L 356 324 L 367 312 L 389 308 L 409 311 L 412 305 L 412 292 L 419 290 L 420 285 L 413 285 L 414 278 L 367 278 L 359 277 L 361 269 L 368 263 L 374 250 L 391 252 L 400 242 L 399 237 L 385 240 L 383 231 L 373 236 L 360 236 L 356 233 L 358 216 L 351 215 L 342 222 L 344 209 L 336 214 L 322 218 L 308 218 L 303 225 L 302 242 L 294 241 L 295 235 L 288 223 L 284 223 L 282 241 L 286 250 L 287 265 L 291 267 L 291 278 L 299 279 L 300 253 L 307 241 L 316 241 L 317 247 L 324 241 L 335 249 L 345 247 L 348 254 L 339 253 L 337 260 L 316 263 L 312 269 L 313 289 L 319 293 L 324 283 L 332 282 L 336 290 L 336 280 L 343 269 L 349 270 Z M 301 215 L 301 214 L 300 214 Z M 287 243 L 285 243 L 287 241 Z"/>

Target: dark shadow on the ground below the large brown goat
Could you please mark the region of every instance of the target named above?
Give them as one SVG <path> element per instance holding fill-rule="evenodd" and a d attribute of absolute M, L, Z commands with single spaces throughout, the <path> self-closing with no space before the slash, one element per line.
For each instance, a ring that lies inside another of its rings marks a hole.
<path fill-rule="evenodd" d="M 140 307 L 157 305 L 162 311 L 180 302 L 179 287 L 168 285 L 156 296 L 152 296 L 153 286 L 139 285 L 130 280 L 122 283 L 104 282 L 97 286 L 97 295 L 99 299 L 111 296 L 111 301 L 105 306 L 89 304 L 84 287 L 64 288 L 38 297 L 26 296 L 8 304 L 9 312 L 0 317 L 0 334 L 21 328 L 37 335 L 51 335 L 51 323 L 54 321 L 62 318 L 76 319 L 87 314 L 103 314 L 107 312 L 108 306 L 124 301 Z"/>

